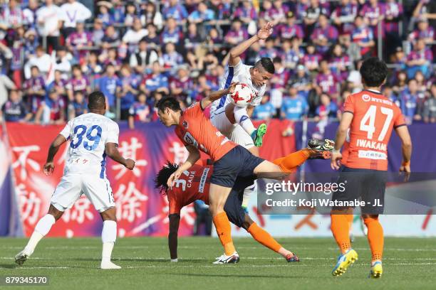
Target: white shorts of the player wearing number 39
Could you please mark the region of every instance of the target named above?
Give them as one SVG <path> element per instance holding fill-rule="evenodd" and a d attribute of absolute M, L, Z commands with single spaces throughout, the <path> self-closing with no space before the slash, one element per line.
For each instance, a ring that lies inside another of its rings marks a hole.
<path fill-rule="evenodd" d="M 98 175 L 67 173 L 51 196 L 51 204 L 58 210 L 71 208 L 85 194 L 100 213 L 115 206 L 112 188 L 107 178 Z"/>

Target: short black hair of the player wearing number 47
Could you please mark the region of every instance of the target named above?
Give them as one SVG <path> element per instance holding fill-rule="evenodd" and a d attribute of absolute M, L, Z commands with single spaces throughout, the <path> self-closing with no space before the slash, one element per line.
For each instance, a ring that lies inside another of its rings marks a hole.
<path fill-rule="evenodd" d="M 380 87 L 388 75 L 388 67 L 378 58 L 367 58 L 360 67 L 362 80 L 368 87 Z"/>

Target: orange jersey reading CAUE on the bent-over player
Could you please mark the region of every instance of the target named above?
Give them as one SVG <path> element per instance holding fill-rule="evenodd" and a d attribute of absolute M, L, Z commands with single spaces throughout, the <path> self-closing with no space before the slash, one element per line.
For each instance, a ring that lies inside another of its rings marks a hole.
<path fill-rule="evenodd" d="M 188 171 L 182 173 L 167 193 L 170 207 L 169 215 L 180 214 L 180 210 L 184 206 L 195 200 L 203 200 L 209 205 L 209 179 L 212 176 L 212 171 L 212 166 L 195 164 Z"/>

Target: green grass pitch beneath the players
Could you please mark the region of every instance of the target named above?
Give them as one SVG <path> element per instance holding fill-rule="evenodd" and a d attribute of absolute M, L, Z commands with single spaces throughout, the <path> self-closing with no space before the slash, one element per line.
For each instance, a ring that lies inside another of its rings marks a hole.
<path fill-rule="evenodd" d="M 43 239 L 21 267 L 14 255 L 24 239 L 0 239 L 0 276 L 49 276 L 48 286 L 2 289 L 435 289 L 436 239 L 386 238 L 383 277 L 368 279 L 370 251 L 365 237 L 353 248 L 359 260 L 340 277 L 331 276 L 338 250 L 333 238 L 283 238 L 299 263 L 287 263 L 249 238 L 236 238 L 239 264 L 212 265 L 222 254 L 216 238 L 179 240 L 179 262 L 170 263 L 165 238 L 120 238 L 113 261 L 123 269 L 100 270 L 99 238 Z"/>

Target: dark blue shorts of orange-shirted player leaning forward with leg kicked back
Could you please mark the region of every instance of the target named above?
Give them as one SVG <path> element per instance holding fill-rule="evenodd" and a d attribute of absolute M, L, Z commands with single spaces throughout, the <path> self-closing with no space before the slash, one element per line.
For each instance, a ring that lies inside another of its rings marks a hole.
<path fill-rule="evenodd" d="M 250 151 L 238 145 L 214 162 L 214 172 L 210 183 L 217 186 L 233 188 L 238 177 L 252 176 L 254 168 L 264 162 Z"/>

